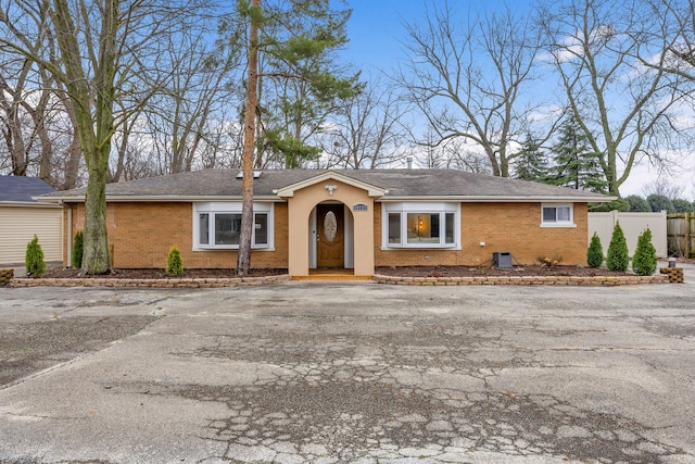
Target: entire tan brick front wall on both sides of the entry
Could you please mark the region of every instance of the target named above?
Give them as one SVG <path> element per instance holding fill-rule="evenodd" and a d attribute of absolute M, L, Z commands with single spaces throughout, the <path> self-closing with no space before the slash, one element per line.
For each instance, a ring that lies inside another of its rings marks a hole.
<path fill-rule="evenodd" d="M 84 227 L 84 204 L 68 208 L 73 209 L 74 235 Z M 185 268 L 236 267 L 236 250 L 192 251 L 192 203 L 109 203 L 106 223 L 114 267 L 164 268 L 172 246 L 181 250 Z M 287 203 L 275 203 L 274 216 L 275 250 L 254 250 L 252 267 L 288 267 Z M 67 214 L 64 217 L 67 221 Z M 555 255 L 561 256 L 563 264 L 585 264 L 586 220 L 586 203 L 574 203 L 573 228 L 540 227 L 540 203 L 462 203 L 462 250 L 382 250 L 381 203 L 375 203 L 375 265 L 479 265 L 501 251 L 511 252 L 514 264 L 533 264 L 539 256 Z M 67 264 L 67 243 L 64 250 Z"/>

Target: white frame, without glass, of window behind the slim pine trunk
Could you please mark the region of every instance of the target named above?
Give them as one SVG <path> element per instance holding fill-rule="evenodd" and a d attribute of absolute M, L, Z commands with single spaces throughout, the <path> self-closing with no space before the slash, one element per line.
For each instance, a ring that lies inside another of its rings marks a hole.
<path fill-rule="evenodd" d="M 238 250 L 239 244 L 216 244 L 215 243 L 215 215 L 216 214 L 241 214 L 242 203 L 240 201 L 211 201 L 193 203 L 193 251 L 205 250 Z M 207 214 L 207 229 L 210 243 L 200 242 L 200 215 Z M 253 203 L 254 225 L 255 216 L 265 214 L 267 216 L 267 243 L 256 243 L 256 230 L 252 229 L 251 248 L 254 250 L 275 250 L 275 204 Z"/>

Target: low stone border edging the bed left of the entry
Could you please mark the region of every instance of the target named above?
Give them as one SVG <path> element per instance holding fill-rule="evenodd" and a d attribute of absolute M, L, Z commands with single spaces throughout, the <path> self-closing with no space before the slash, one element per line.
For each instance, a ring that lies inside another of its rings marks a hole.
<path fill-rule="evenodd" d="M 279 284 L 290 280 L 289 274 L 264 277 L 237 278 L 161 278 L 161 279 L 119 279 L 119 278 L 14 278 L 10 287 L 139 287 L 139 288 L 222 288 L 249 287 Z"/>

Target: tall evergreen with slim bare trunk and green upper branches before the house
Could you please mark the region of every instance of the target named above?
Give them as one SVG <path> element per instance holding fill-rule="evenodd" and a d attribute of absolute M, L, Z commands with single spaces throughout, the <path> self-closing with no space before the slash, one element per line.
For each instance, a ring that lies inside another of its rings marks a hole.
<path fill-rule="evenodd" d="M 356 75 L 339 75 L 331 59 L 348 42 L 345 24 L 350 10 L 332 10 L 329 0 L 240 0 L 239 8 L 240 17 L 248 21 L 249 28 L 243 205 L 237 261 L 237 273 L 245 275 L 251 267 L 253 168 L 257 164 L 260 142 L 265 149 L 285 155 L 286 165 L 299 166 L 302 159 L 318 153 L 301 138 L 307 114 L 334 99 L 354 96 L 359 85 Z M 271 120 L 265 124 L 266 114 L 258 103 L 264 80 L 301 89 L 285 93 L 280 102 L 287 120 L 292 121 L 285 128 L 278 128 Z"/>

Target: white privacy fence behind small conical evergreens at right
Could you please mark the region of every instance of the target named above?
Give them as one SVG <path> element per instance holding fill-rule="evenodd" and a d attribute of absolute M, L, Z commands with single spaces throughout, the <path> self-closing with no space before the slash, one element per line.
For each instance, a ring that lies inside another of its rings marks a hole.
<path fill-rule="evenodd" d="M 656 248 L 656 255 L 659 258 L 668 256 L 666 211 L 660 213 L 621 213 L 618 211 L 589 213 L 589 242 L 591 242 L 594 233 L 598 234 L 604 255 L 608 252 L 612 229 L 618 222 L 626 235 L 630 256 L 634 254 L 637 237 L 647 227 L 652 230 L 652 244 Z"/>

